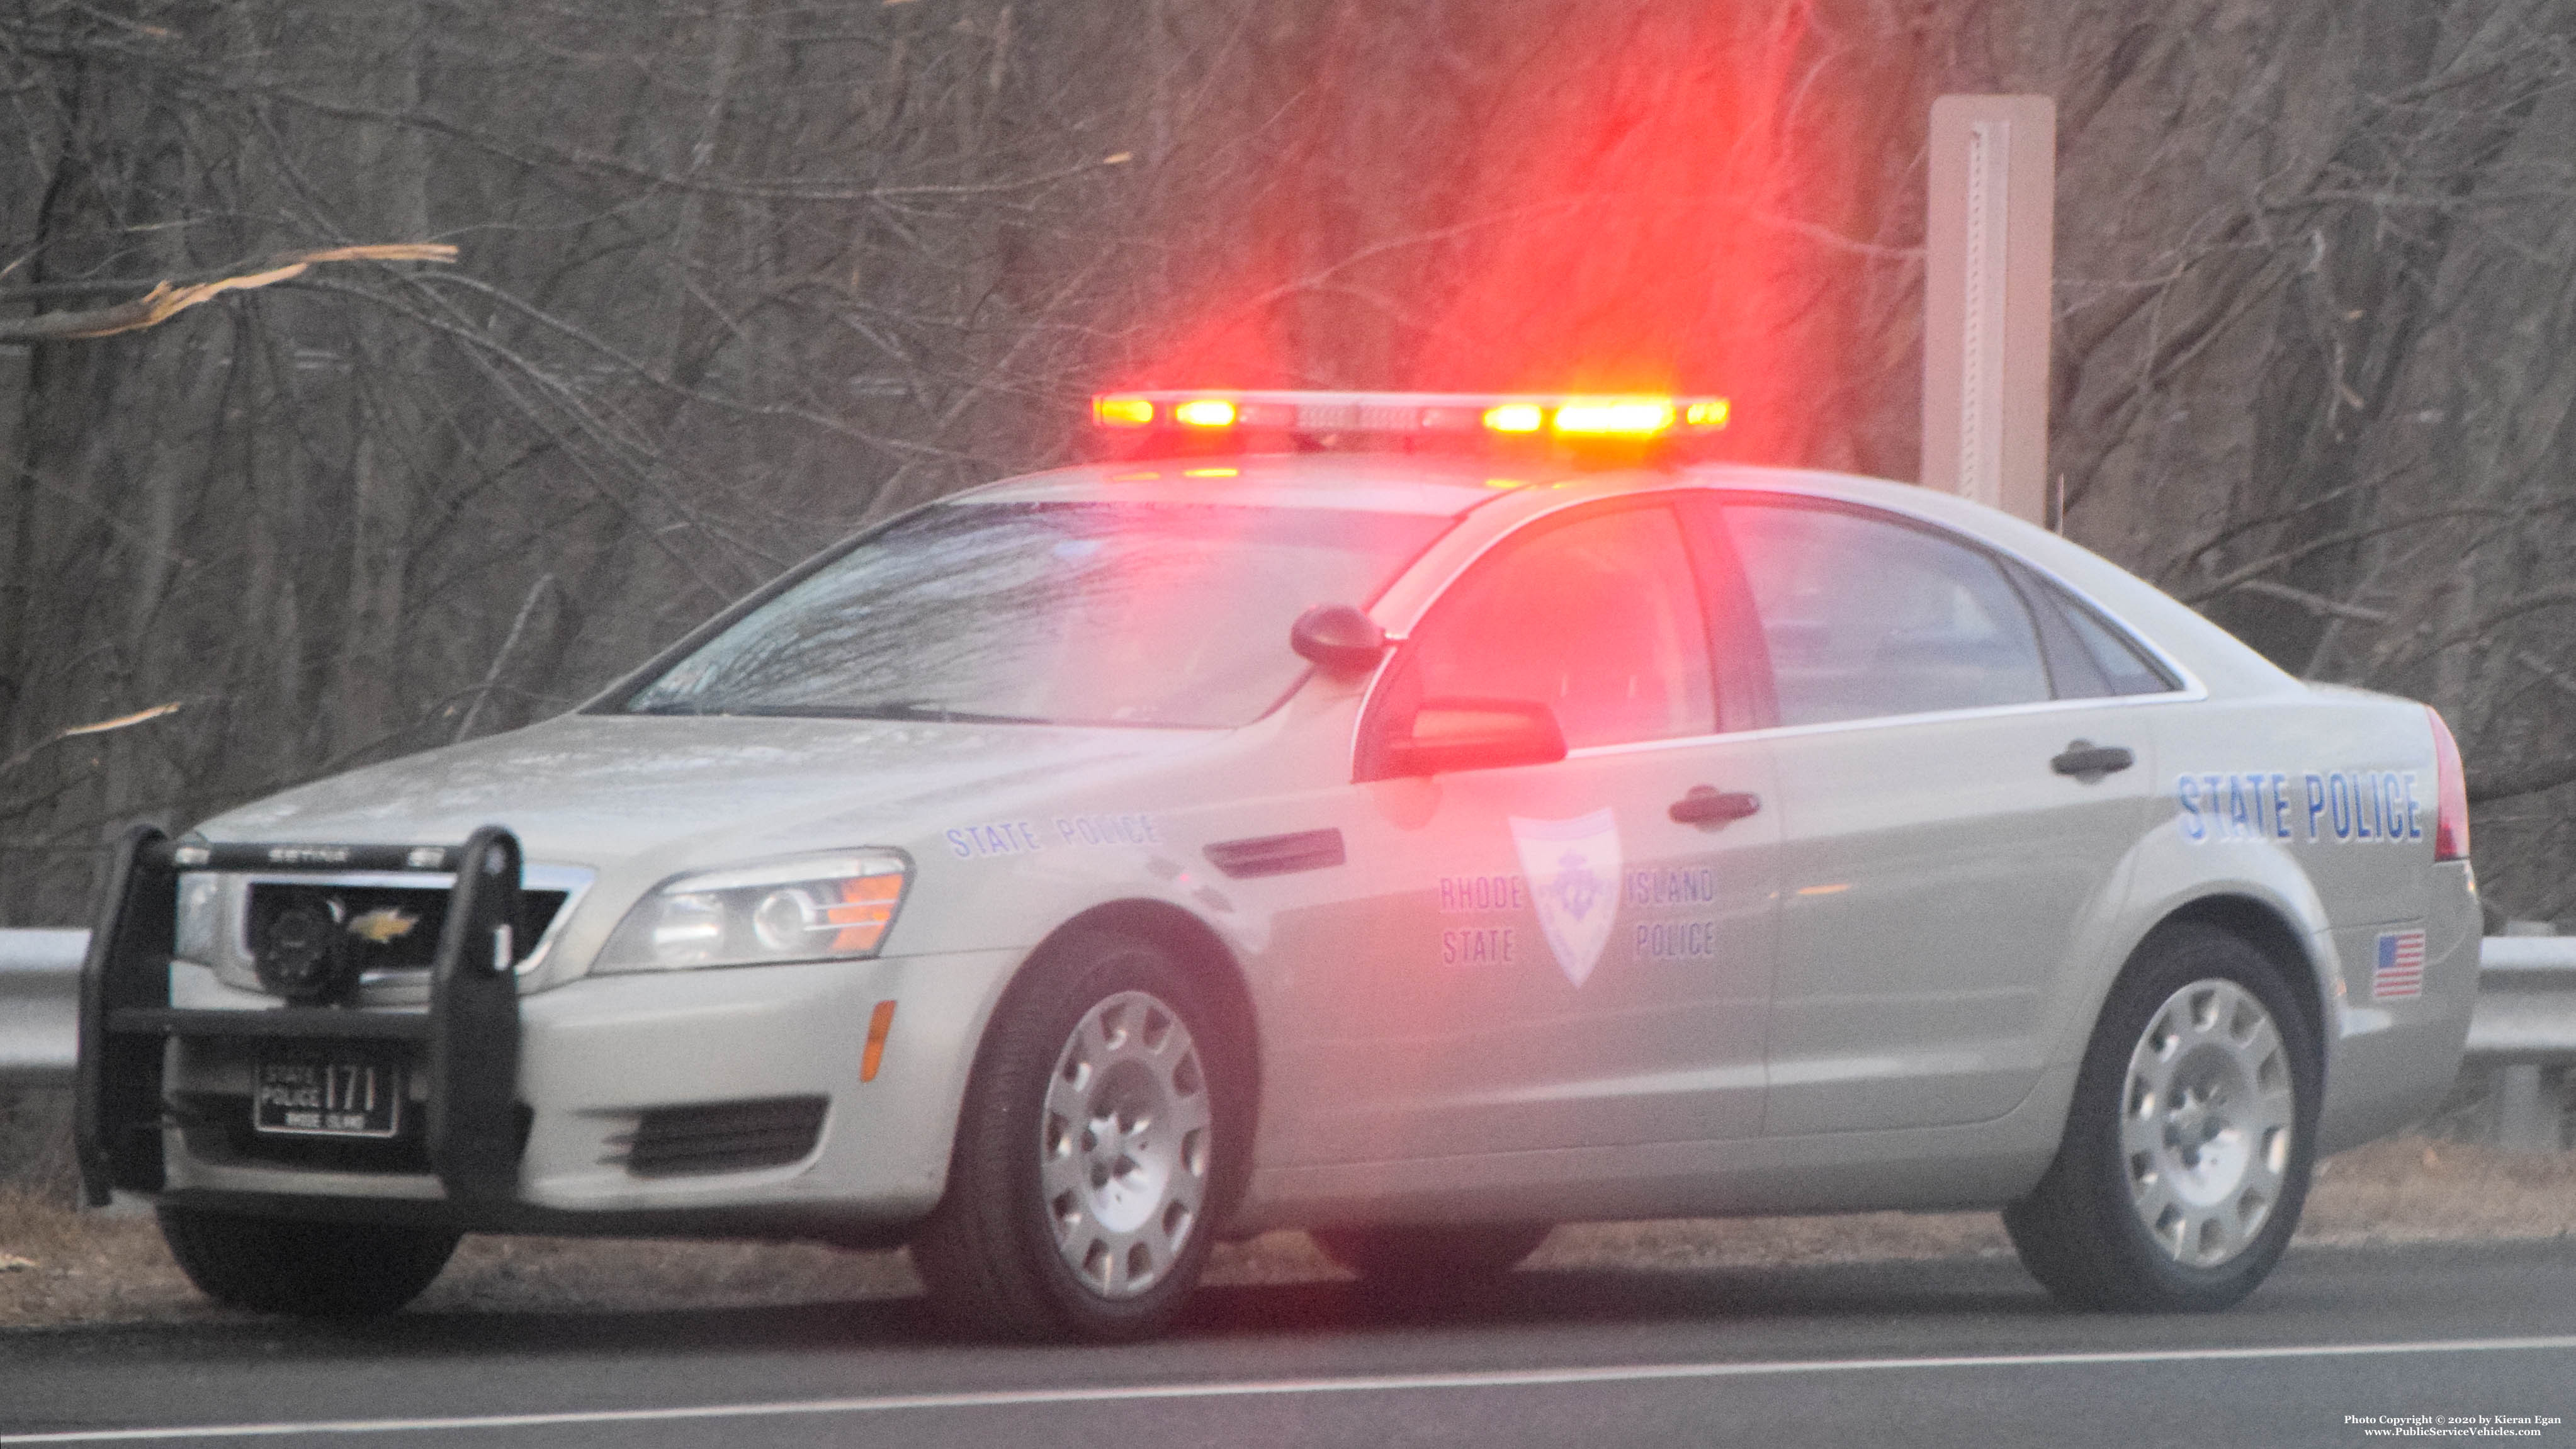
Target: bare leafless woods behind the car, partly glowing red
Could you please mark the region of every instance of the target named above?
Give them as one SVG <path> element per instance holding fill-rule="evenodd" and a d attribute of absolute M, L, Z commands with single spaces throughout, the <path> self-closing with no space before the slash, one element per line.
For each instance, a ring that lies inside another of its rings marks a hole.
<path fill-rule="evenodd" d="M 1914 476 L 1945 90 L 2058 100 L 2066 530 L 2434 700 L 2576 911 L 2576 3 L 0 0 L 0 924 L 562 710 L 1097 386 L 1687 386 Z M 21 327 L 23 329 L 23 327 Z M 111 734 L 62 731 L 178 703 Z"/>

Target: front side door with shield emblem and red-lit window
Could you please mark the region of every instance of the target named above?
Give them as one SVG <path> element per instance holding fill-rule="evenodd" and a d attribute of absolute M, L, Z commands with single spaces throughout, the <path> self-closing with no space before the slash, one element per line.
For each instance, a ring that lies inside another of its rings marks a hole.
<path fill-rule="evenodd" d="M 1770 752 L 1721 731 L 1680 515 L 1543 520 L 1471 569 L 1363 721 L 1546 705 L 1548 764 L 1352 785 L 1352 950 L 1301 960 L 1283 1161 L 1747 1138 L 1762 1120 L 1777 813 Z M 1291 1066 L 1291 1063 L 1283 1063 Z"/>

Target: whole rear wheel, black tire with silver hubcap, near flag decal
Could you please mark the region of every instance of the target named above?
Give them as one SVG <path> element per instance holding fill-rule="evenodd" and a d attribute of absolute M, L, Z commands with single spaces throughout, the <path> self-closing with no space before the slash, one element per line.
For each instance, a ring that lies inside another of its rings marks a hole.
<path fill-rule="evenodd" d="M 2102 1004 L 2056 1161 L 2004 1207 L 2022 1266 L 2076 1307 L 2241 1302 L 2298 1230 L 2321 1084 L 2316 1032 L 2264 952 L 2197 921 L 2156 929 Z"/>

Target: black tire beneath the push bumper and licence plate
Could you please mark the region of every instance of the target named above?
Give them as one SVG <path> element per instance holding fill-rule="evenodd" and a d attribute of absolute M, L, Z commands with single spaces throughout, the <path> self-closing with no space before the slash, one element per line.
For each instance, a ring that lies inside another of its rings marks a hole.
<path fill-rule="evenodd" d="M 430 1287 L 456 1233 L 162 1207 L 162 1241 L 206 1297 L 296 1318 L 374 1318 Z"/>

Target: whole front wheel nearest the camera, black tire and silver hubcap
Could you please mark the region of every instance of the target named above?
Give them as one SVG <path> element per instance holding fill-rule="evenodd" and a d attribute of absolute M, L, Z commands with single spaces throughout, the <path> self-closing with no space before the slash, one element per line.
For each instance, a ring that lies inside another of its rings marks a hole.
<path fill-rule="evenodd" d="M 1172 1042 L 1170 1055 L 1118 1048 L 1126 1055 L 1079 1060 L 1090 1048 L 1077 1050 L 1074 1032 L 1103 1011 L 1136 1042 Z M 1157 1011 L 1170 1017 L 1162 1037 Z M 1126 1341 L 1170 1325 L 1249 1161 L 1239 1060 L 1211 991 L 1162 947 L 1087 932 L 1048 950 L 984 1032 L 948 1192 L 912 1238 L 933 1313 L 992 1338 Z M 1121 1228 L 1128 1207 L 1105 1174 L 1123 1163 L 1131 1176 L 1118 1181 L 1144 1181 L 1136 1161 L 1159 1168 L 1151 1189 L 1126 1197 L 1141 1220 Z"/>

